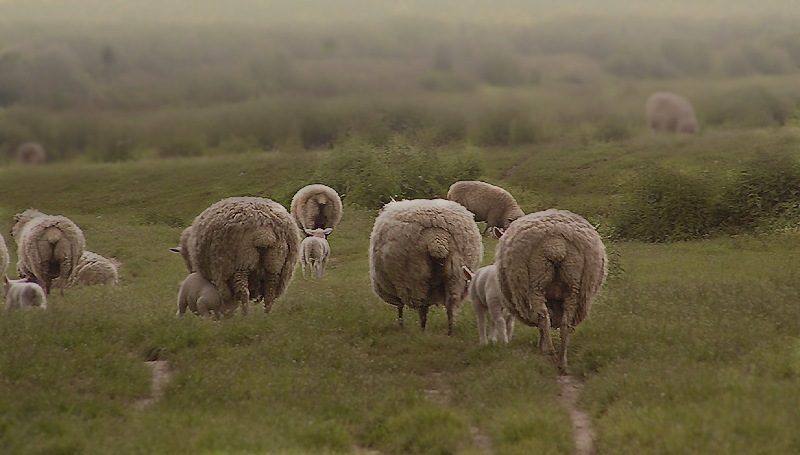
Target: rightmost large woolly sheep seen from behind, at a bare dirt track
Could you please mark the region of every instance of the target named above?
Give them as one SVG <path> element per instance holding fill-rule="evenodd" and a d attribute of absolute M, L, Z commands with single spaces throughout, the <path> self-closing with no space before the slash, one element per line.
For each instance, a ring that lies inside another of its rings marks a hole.
<path fill-rule="evenodd" d="M 495 249 L 495 263 L 508 309 L 539 328 L 539 350 L 554 355 L 550 327 L 561 331 L 556 358 L 566 373 L 569 335 L 589 314 L 606 276 L 600 235 L 585 219 L 549 209 L 526 215 L 508 228 Z"/>

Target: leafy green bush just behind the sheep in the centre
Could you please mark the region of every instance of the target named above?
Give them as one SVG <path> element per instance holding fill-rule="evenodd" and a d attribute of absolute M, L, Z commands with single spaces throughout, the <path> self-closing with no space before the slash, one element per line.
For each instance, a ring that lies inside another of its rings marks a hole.
<path fill-rule="evenodd" d="M 480 168 L 474 155 L 447 163 L 435 151 L 399 137 L 382 144 L 351 138 L 334 147 L 317 179 L 336 189 L 344 201 L 376 209 L 392 199 L 444 197 L 450 184 L 477 178 Z"/>

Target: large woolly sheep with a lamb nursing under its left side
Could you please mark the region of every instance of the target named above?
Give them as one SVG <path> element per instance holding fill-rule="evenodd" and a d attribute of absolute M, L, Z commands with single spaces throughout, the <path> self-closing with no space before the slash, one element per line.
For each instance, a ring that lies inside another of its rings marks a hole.
<path fill-rule="evenodd" d="M 300 256 L 301 234 L 286 209 L 260 197 L 212 204 L 192 223 L 195 266 L 223 302 L 252 299 L 268 313 L 289 285 Z"/>

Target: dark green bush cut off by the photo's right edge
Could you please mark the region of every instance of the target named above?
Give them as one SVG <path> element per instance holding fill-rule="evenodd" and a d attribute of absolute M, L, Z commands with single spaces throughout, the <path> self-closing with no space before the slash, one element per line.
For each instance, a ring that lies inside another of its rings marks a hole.
<path fill-rule="evenodd" d="M 788 156 L 760 153 L 745 165 L 722 195 L 725 221 L 733 230 L 796 212 L 800 164 Z"/>

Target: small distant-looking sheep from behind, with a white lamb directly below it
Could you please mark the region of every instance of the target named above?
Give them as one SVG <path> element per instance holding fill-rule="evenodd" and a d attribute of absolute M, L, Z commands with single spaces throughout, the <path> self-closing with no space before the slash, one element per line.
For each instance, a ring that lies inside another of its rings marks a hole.
<path fill-rule="evenodd" d="M 307 185 L 295 193 L 290 211 L 300 229 L 334 229 L 342 219 L 342 200 L 329 186 Z"/>

